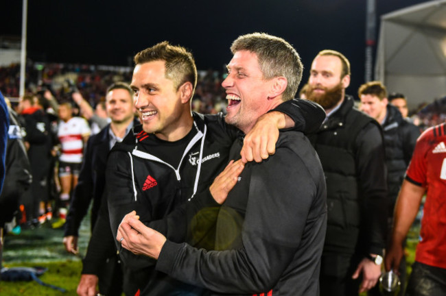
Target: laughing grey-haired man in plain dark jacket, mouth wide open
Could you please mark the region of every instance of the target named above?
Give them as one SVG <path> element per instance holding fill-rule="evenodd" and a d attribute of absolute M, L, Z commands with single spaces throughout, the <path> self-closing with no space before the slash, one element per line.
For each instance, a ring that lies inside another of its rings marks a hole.
<path fill-rule="evenodd" d="M 222 83 L 229 100 L 225 120 L 246 134 L 262 114 L 293 99 L 303 66 L 290 44 L 268 34 L 240 36 L 231 51 Z M 239 158 L 242 136 L 230 159 Z M 280 132 L 274 155 L 248 162 L 235 180 L 225 187 L 235 185 L 218 212 L 215 251 L 166 240 L 133 219 L 134 212 L 119 226 L 117 240 L 157 258 L 157 270 L 209 289 L 207 295 L 316 295 L 327 210 L 322 167 L 307 138 Z"/>

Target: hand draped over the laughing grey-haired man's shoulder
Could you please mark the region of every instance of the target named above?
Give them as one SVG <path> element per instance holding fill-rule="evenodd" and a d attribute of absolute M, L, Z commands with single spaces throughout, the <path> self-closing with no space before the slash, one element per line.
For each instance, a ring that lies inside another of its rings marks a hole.
<path fill-rule="evenodd" d="M 254 127 L 245 136 L 243 142 L 242 161 L 261 162 L 274 154 L 279 138 L 279 129 L 294 126 L 294 121 L 287 115 L 273 111 L 263 114 L 257 119 Z"/>

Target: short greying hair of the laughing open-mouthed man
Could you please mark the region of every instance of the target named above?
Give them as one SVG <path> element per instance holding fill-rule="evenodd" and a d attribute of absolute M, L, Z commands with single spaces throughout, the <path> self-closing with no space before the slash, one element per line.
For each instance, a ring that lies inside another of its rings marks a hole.
<path fill-rule="evenodd" d="M 287 87 L 283 100 L 294 99 L 301 83 L 303 65 L 296 49 L 284 39 L 265 33 L 253 33 L 239 36 L 231 45 L 231 52 L 246 50 L 257 55 L 263 77 L 283 76 Z"/>

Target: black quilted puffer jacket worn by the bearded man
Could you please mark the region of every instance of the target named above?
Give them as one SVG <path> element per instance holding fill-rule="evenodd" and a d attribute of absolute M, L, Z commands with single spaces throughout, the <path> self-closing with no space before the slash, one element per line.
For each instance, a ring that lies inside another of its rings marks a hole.
<path fill-rule="evenodd" d="M 309 136 L 327 182 L 324 254 L 382 254 L 387 221 L 386 168 L 381 127 L 344 98 Z"/>

